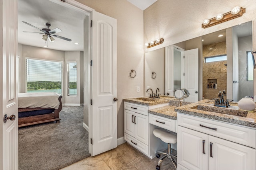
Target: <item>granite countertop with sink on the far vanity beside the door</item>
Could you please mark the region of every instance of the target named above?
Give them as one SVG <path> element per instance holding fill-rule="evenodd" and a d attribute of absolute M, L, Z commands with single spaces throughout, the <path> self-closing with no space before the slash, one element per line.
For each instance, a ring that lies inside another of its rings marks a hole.
<path fill-rule="evenodd" d="M 139 98 L 144 98 L 144 99 L 148 99 L 149 101 L 145 101 L 145 100 L 139 100 Z M 134 103 L 134 104 L 141 104 L 141 105 L 146 105 L 146 106 L 153 106 L 156 104 L 163 104 L 163 103 L 168 103 L 169 100 L 166 99 L 162 99 L 162 98 L 148 98 L 148 97 L 136 97 L 136 98 L 125 98 L 123 99 L 124 102 L 130 102 L 130 103 Z"/>

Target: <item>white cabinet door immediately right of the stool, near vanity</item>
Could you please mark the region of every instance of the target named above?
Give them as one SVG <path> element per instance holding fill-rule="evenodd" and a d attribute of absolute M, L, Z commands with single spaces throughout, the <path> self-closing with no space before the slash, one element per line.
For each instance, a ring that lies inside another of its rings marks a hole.
<path fill-rule="evenodd" d="M 189 170 L 208 170 L 208 135 L 178 126 L 178 163 Z"/>

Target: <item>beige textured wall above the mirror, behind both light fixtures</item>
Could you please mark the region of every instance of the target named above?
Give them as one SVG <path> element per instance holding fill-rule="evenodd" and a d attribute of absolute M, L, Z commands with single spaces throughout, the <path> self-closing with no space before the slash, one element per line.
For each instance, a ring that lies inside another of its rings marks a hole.
<path fill-rule="evenodd" d="M 201 27 L 204 19 L 214 18 L 219 12 L 229 12 L 234 6 L 246 8 L 246 13 L 242 17 L 206 29 Z M 156 38 L 164 38 L 164 43 L 150 49 L 144 47 L 144 53 L 251 20 L 253 21 L 253 49 L 255 51 L 255 11 L 256 4 L 253 0 L 197 0 L 196 2 L 182 0 L 179 3 L 173 3 L 170 0 L 158 0 L 144 10 L 144 43 Z M 199 62 L 199 71 L 202 71 L 202 60 Z M 254 78 L 256 78 L 256 70 L 254 73 Z M 199 72 L 199 88 L 202 86 L 200 78 L 202 78 L 202 72 Z M 254 81 L 255 88 L 256 81 Z M 254 90 L 254 95 L 256 95 L 255 92 L 256 90 Z"/>

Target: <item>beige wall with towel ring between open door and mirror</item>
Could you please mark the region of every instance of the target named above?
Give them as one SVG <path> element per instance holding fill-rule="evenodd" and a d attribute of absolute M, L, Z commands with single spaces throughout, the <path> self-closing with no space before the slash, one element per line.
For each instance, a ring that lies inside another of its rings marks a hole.
<path fill-rule="evenodd" d="M 120 138 L 124 136 L 122 99 L 144 96 L 143 11 L 127 0 L 76 1 L 117 20 L 117 137 Z M 129 77 L 132 69 L 136 70 L 135 78 Z"/>

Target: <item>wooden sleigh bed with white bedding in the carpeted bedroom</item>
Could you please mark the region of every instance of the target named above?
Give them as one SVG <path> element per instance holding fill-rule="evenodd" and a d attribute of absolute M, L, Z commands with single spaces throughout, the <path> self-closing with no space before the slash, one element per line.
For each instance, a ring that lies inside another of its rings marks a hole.
<path fill-rule="evenodd" d="M 56 121 L 60 123 L 62 96 L 55 92 L 19 93 L 19 127 Z"/>

